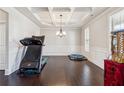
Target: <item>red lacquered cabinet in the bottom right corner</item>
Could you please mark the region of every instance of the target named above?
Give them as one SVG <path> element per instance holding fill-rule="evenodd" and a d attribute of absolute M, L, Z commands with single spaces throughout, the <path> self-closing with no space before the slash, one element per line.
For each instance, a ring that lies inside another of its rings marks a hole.
<path fill-rule="evenodd" d="M 124 63 L 104 60 L 104 85 L 124 86 Z"/>

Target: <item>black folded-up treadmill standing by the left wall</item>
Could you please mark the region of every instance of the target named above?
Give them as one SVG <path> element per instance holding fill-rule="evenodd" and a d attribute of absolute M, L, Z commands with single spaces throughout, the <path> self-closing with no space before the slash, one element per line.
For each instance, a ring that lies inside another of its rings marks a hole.
<path fill-rule="evenodd" d="M 19 67 L 19 73 L 36 73 L 40 74 L 44 67 L 44 58 L 42 58 L 42 47 L 45 36 L 32 36 L 31 38 L 24 38 L 20 43 L 26 49 Z"/>

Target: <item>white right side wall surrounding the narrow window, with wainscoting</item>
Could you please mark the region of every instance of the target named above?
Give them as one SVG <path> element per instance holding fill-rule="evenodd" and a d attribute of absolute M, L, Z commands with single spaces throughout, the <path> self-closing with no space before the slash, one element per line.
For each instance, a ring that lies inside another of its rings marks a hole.
<path fill-rule="evenodd" d="M 109 16 L 120 9 L 109 9 L 82 27 L 81 51 L 91 62 L 104 69 L 104 59 L 109 55 Z M 84 29 L 90 28 L 90 52 L 84 50 Z"/>

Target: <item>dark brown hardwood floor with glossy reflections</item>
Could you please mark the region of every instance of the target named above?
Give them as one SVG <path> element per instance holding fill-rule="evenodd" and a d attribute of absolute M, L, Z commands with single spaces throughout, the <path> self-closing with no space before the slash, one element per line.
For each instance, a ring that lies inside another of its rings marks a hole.
<path fill-rule="evenodd" d="M 4 76 L 0 71 L 3 86 L 100 86 L 103 85 L 103 70 L 88 61 L 73 62 L 65 56 L 51 56 L 39 76 L 19 76 L 13 73 Z"/>

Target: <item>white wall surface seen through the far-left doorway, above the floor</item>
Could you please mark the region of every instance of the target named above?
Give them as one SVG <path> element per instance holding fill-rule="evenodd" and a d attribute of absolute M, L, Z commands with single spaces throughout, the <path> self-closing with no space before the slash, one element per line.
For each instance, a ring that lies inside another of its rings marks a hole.
<path fill-rule="evenodd" d="M 6 25 L 7 14 L 0 10 L 0 70 L 5 70 L 6 60 Z"/>

